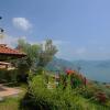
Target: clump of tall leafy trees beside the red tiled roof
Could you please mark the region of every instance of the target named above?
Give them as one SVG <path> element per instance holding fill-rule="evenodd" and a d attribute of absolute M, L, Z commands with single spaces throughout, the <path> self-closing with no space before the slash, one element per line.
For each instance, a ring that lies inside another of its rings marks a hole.
<path fill-rule="evenodd" d="M 24 40 L 19 40 L 16 48 L 26 53 L 26 57 L 18 59 L 15 63 L 21 74 L 29 70 L 42 72 L 43 68 L 53 59 L 57 52 L 56 46 L 53 45 L 52 40 L 47 40 L 44 45 L 32 45 Z"/>

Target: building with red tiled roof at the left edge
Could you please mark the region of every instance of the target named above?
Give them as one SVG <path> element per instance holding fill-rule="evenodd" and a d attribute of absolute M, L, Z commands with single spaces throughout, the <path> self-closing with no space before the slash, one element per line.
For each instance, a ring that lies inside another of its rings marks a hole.
<path fill-rule="evenodd" d="M 19 50 L 11 48 L 7 44 L 0 44 L 0 69 L 13 69 L 14 67 L 9 63 L 10 59 L 21 58 L 26 56 L 25 53 Z"/>

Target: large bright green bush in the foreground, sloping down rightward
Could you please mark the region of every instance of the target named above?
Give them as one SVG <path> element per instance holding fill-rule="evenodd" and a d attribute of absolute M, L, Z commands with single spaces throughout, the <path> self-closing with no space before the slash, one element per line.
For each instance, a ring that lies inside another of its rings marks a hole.
<path fill-rule="evenodd" d="M 99 110 L 105 106 L 97 106 L 88 99 L 82 98 L 76 89 L 68 85 L 63 89 L 48 89 L 44 75 L 36 75 L 29 81 L 29 90 L 21 101 L 21 110 Z"/>

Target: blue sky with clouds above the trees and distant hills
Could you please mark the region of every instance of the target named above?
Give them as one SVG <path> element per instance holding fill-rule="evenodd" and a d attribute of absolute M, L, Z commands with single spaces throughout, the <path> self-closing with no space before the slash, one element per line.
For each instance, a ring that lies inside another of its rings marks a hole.
<path fill-rule="evenodd" d="M 59 58 L 110 59 L 110 0 L 0 0 L 0 28 L 18 38 L 52 38 Z"/>

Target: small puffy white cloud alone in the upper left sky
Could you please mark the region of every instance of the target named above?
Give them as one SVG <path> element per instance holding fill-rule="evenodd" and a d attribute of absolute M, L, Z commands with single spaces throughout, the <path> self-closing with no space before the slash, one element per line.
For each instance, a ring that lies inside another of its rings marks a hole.
<path fill-rule="evenodd" d="M 25 18 L 13 18 L 12 19 L 13 25 L 20 30 L 28 31 L 32 28 L 30 21 Z"/>

